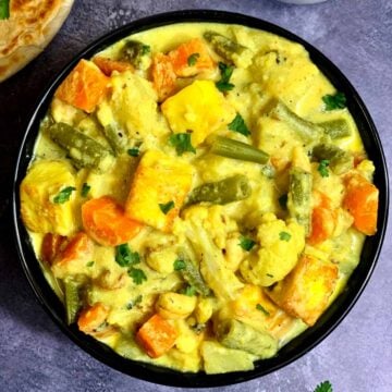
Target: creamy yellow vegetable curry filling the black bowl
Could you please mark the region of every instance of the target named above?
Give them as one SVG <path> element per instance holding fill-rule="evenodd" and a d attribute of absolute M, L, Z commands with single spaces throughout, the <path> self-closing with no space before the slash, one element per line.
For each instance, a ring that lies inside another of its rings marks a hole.
<path fill-rule="evenodd" d="M 21 210 L 68 322 L 135 360 L 249 370 L 357 266 L 376 232 L 373 170 L 301 45 L 175 24 L 65 78 Z"/>

